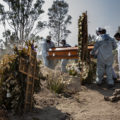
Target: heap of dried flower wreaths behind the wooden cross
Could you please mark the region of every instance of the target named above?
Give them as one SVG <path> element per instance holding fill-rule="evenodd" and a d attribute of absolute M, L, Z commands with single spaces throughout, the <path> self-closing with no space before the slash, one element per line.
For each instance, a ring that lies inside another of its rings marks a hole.
<path fill-rule="evenodd" d="M 28 60 L 28 49 L 18 50 L 15 46 L 14 55 L 7 55 L 4 64 L 0 62 L 0 106 L 5 105 L 7 110 L 12 110 L 14 113 L 23 113 L 25 102 L 27 76 L 19 71 L 20 57 Z M 40 62 L 37 62 L 39 80 L 34 82 L 34 92 L 40 90 L 39 66 Z"/>

